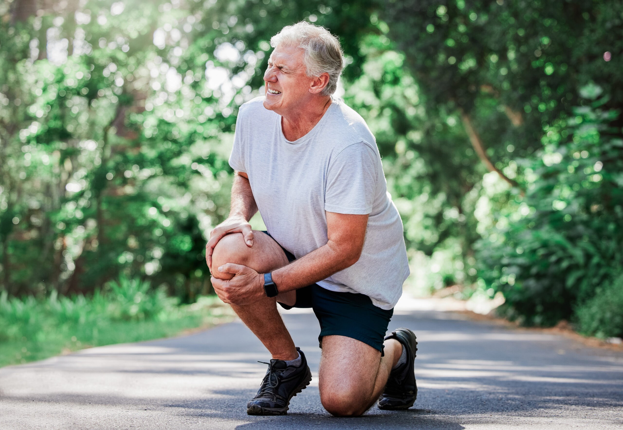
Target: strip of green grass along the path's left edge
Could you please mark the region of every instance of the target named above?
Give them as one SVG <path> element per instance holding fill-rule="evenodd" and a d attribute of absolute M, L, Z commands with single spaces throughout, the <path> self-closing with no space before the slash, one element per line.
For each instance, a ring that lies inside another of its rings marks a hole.
<path fill-rule="evenodd" d="M 44 299 L 0 293 L 0 366 L 27 363 L 92 346 L 174 336 L 231 319 L 216 296 L 178 305 L 149 283 L 120 278 L 107 293 Z"/>

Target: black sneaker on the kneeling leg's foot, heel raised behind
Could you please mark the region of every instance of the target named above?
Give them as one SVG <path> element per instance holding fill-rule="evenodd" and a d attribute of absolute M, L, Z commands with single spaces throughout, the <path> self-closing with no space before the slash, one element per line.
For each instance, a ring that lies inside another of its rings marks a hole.
<path fill-rule="evenodd" d="M 416 335 L 408 328 L 397 328 L 385 340 L 396 339 L 407 351 L 407 362 L 402 363 L 389 373 L 388 383 L 383 390 L 377 404 L 379 409 L 395 411 L 409 409 L 417 398 L 416 373 L 414 359 L 416 358 Z"/>

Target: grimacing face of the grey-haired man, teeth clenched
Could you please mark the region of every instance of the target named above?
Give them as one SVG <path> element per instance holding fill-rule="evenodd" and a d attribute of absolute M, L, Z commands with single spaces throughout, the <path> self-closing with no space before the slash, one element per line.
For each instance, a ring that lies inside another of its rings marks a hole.
<path fill-rule="evenodd" d="M 277 46 L 269 58 L 264 74 L 266 97 L 264 107 L 283 115 L 288 110 L 306 104 L 315 79 L 307 76 L 303 58 L 305 52 L 296 46 Z"/>

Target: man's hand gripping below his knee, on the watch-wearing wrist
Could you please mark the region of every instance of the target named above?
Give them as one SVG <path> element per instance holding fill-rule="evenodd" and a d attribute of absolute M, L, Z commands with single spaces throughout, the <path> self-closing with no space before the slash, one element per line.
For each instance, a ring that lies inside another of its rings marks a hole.
<path fill-rule="evenodd" d="M 217 296 L 232 305 L 252 305 L 267 298 L 264 291 L 264 276 L 247 266 L 226 263 L 217 269 L 221 273 L 232 273 L 234 277 L 222 280 L 212 276 L 212 286 Z"/>

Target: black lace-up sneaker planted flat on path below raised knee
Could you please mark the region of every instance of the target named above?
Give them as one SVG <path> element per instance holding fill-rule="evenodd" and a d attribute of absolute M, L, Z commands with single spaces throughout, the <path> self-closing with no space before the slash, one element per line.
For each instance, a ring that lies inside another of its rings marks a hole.
<path fill-rule="evenodd" d="M 285 415 L 290 399 L 307 388 L 312 381 L 312 371 L 307 365 L 303 351 L 298 367 L 288 366 L 283 360 L 271 359 L 266 376 L 257 395 L 247 403 L 249 415 Z M 260 361 L 259 363 L 264 363 Z"/>

